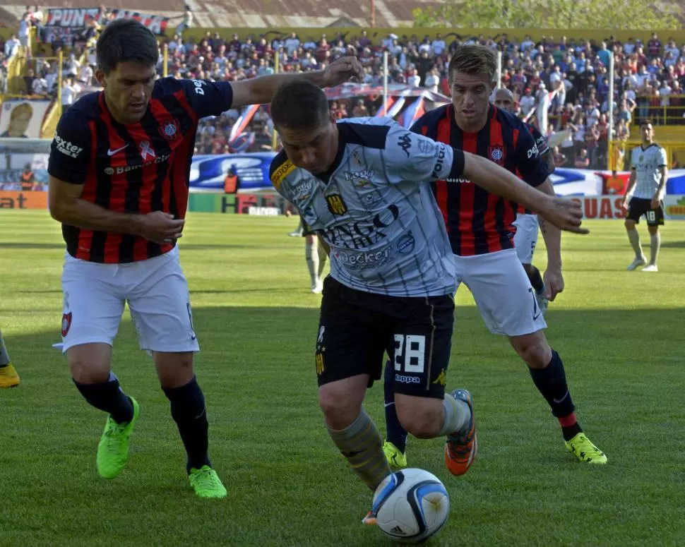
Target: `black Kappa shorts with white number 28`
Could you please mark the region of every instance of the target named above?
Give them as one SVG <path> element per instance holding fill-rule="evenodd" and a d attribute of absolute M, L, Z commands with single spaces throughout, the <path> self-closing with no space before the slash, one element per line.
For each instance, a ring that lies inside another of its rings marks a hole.
<path fill-rule="evenodd" d="M 395 393 L 441 399 L 453 324 L 449 294 L 383 296 L 350 289 L 328 276 L 316 340 L 318 385 L 369 374 L 371 387 L 381 378 L 387 351 L 395 365 Z"/>

